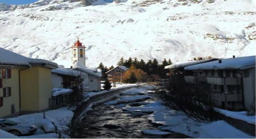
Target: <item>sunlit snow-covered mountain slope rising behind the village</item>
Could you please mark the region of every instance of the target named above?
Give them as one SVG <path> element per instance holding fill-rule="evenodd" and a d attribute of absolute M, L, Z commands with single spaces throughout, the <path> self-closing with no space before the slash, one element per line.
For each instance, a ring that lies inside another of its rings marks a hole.
<path fill-rule="evenodd" d="M 40 0 L 0 12 L 0 47 L 67 64 L 79 37 L 89 67 L 115 65 L 121 56 L 177 63 L 255 55 L 256 0 L 77 1 Z M 56 5 L 62 10 L 45 10 Z"/>

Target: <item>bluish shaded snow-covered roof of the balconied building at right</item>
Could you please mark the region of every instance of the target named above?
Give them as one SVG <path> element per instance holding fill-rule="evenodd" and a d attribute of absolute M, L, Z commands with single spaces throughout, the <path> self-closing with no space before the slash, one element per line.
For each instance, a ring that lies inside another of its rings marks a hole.
<path fill-rule="evenodd" d="M 187 66 L 185 70 L 216 70 L 216 69 L 246 69 L 255 67 L 255 56 L 244 56 L 238 58 L 225 58 L 219 61 L 210 61 L 207 63 Z"/>

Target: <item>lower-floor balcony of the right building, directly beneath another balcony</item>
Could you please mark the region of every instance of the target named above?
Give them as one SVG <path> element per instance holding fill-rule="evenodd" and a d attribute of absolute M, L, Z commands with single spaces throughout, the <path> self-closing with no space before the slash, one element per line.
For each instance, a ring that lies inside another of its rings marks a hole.
<path fill-rule="evenodd" d="M 224 93 L 211 93 L 214 100 L 220 102 L 239 102 L 242 101 L 242 94 L 224 94 Z"/>

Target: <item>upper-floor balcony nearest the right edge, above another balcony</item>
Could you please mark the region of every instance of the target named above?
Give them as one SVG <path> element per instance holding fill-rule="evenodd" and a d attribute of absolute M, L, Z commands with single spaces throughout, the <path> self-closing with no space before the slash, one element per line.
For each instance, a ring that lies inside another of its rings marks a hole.
<path fill-rule="evenodd" d="M 207 77 L 206 78 L 207 83 L 209 84 L 215 84 L 215 85 L 240 85 L 241 80 L 240 77 L 226 77 L 226 78 L 220 78 L 220 77 Z"/>

